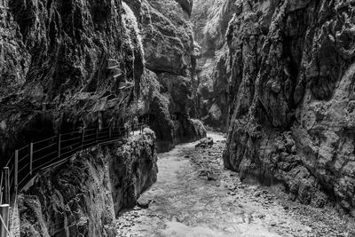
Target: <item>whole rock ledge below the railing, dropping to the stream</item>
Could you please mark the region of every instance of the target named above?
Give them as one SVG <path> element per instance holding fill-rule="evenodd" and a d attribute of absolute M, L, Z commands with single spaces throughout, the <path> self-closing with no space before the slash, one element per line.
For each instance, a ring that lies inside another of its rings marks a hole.
<path fill-rule="evenodd" d="M 156 180 L 152 130 L 40 174 L 20 198 L 21 236 L 115 236 L 115 215 Z"/>

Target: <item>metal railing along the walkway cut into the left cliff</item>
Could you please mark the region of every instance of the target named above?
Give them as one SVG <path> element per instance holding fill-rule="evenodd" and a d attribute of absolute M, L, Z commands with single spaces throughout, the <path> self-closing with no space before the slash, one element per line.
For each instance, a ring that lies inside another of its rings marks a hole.
<path fill-rule="evenodd" d="M 11 195 L 14 194 L 13 202 L 16 203 L 18 191 L 21 191 L 35 177 L 38 171 L 56 167 L 61 163 L 67 162 L 73 154 L 92 146 L 111 143 L 122 138 L 129 138 L 130 132 L 134 134 L 135 130 L 142 133 L 145 127 L 145 123 L 138 123 L 130 127 L 75 130 L 31 142 L 27 146 L 15 150 L 1 172 L 1 237 L 8 236 L 7 234 L 11 233 L 8 225 Z"/>

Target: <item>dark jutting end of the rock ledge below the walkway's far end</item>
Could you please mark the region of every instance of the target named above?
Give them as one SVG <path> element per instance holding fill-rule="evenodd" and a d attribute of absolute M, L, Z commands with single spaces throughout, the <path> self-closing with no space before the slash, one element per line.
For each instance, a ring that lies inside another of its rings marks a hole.
<path fill-rule="evenodd" d="M 111 156 L 110 156 L 111 155 Z M 146 129 L 144 136 L 135 136 L 108 154 L 111 190 L 116 215 L 136 205 L 138 197 L 156 181 L 155 135 Z"/>

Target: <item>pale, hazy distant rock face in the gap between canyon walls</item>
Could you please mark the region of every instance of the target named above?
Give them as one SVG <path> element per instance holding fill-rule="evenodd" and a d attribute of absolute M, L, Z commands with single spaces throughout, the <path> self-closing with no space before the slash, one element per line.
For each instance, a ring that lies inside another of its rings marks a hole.
<path fill-rule="evenodd" d="M 225 130 L 228 120 L 230 62 L 225 32 L 234 4 L 223 0 L 197 0 L 193 7 L 193 31 L 200 46 L 197 59 L 198 114 L 209 126 Z"/>

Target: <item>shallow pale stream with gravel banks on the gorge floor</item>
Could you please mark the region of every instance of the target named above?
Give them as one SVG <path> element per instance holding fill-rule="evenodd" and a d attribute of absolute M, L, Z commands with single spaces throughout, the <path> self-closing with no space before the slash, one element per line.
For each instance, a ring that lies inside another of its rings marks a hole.
<path fill-rule="evenodd" d="M 215 141 L 210 148 L 188 143 L 158 155 L 158 180 L 140 197 L 140 207 L 117 218 L 118 236 L 355 235 L 354 223 L 330 208 L 313 209 L 288 201 L 276 188 L 242 184 L 223 168 L 223 134 L 209 136 Z"/>

